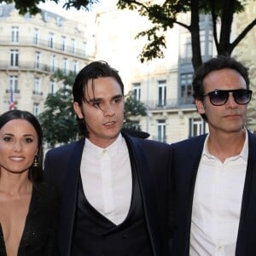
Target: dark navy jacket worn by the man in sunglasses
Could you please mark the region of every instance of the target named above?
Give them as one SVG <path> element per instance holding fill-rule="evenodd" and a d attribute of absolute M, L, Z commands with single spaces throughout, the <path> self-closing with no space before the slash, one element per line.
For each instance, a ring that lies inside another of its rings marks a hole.
<path fill-rule="evenodd" d="M 189 237 L 195 177 L 206 135 L 171 145 L 172 188 L 176 211 L 172 216 L 173 255 L 189 255 Z M 248 132 L 247 174 L 241 202 L 236 256 L 256 255 L 256 137 Z M 236 188 L 234 188 L 236 189 Z"/>

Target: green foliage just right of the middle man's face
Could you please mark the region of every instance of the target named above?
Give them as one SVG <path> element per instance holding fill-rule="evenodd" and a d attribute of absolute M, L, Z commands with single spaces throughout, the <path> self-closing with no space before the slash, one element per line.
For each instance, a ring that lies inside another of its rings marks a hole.
<path fill-rule="evenodd" d="M 125 95 L 125 123 L 127 129 L 141 130 L 137 122 L 132 119 L 135 116 L 146 115 L 146 107 L 143 102 L 137 101 L 132 91 Z"/>

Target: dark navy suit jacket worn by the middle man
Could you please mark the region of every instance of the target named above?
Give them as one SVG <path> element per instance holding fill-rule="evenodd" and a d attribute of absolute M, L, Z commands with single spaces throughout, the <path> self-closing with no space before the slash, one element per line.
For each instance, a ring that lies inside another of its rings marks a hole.
<path fill-rule="evenodd" d="M 137 166 L 136 172 L 154 256 L 164 256 L 166 255 L 168 236 L 167 205 L 170 146 L 131 137 L 125 131 L 122 133 L 128 146 L 130 159 Z M 84 139 L 60 148 L 54 148 L 49 150 L 44 161 L 45 181 L 54 183 L 61 191 L 59 236 L 61 256 L 70 255 L 71 252 L 83 148 Z"/>

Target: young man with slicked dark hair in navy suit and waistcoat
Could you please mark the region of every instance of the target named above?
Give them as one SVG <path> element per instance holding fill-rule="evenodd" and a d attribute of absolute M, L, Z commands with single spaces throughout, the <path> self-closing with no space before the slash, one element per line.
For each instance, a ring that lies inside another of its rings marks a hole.
<path fill-rule="evenodd" d="M 77 75 L 73 108 L 84 138 L 44 162 L 61 191 L 61 256 L 169 255 L 170 145 L 122 130 L 124 84 L 105 61 Z"/>

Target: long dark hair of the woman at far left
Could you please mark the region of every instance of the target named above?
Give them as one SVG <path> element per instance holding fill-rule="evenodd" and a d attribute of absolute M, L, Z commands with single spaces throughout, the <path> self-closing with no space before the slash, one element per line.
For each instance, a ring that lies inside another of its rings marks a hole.
<path fill-rule="evenodd" d="M 33 185 L 40 183 L 43 177 L 43 158 L 44 158 L 44 151 L 43 151 L 43 131 L 41 125 L 38 122 L 38 119 L 32 114 L 27 111 L 22 110 L 9 110 L 0 115 L 0 129 L 2 129 L 3 125 L 8 123 L 10 120 L 13 119 L 24 119 L 29 122 L 38 134 L 38 154 L 36 156 L 38 160 L 38 166 L 30 166 L 28 170 L 28 178 L 32 182 Z"/>

